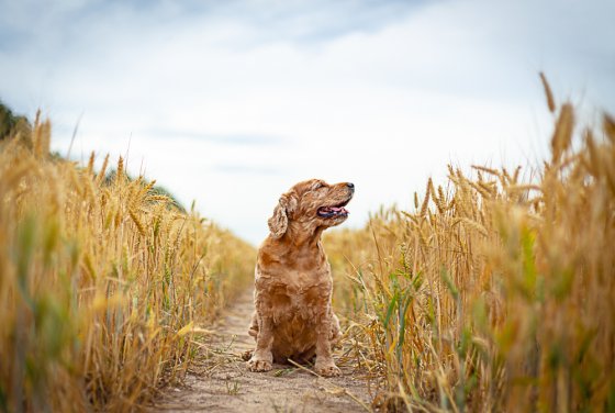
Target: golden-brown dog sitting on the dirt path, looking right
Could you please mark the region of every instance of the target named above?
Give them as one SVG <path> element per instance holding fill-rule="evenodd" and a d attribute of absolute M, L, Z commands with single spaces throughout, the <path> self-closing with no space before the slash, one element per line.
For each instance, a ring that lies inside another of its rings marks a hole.
<path fill-rule="evenodd" d="M 273 361 L 305 364 L 315 357 L 316 373 L 340 375 L 332 356 L 339 321 L 331 305 L 333 279 L 321 235 L 346 221 L 345 206 L 354 193 L 350 182 L 311 179 L 280 197 L 257 256 L 250 371 L 269 371 Z"/>

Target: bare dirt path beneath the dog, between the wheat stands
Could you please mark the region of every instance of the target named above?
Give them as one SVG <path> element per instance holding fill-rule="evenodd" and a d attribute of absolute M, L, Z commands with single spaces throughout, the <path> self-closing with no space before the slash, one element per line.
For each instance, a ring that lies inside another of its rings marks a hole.
<path fill-rule="evenodd" d="M 243 351 L 254 348 L 247 325 L 254 309 L 246 291 L 213 327 L 202 365 L 186 386 L 167 390 L 152 412 L 366 412 L 367 382 L 351 361 L 336 357 L 343 376 L 324 379 L 311 369 L 275 365 L 261 373 L 247 371 Z M 336 351 L 336 355 L 339 351 Z"/>

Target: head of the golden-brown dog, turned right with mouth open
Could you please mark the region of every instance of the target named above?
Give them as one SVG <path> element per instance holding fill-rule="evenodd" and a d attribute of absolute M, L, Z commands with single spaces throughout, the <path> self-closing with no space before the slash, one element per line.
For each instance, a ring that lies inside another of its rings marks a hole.
<path fill-rule="evenodd" d="M 343 223 L 348 217 L 344 206 L 354 193 L 350 182 L 328 185 L 322 179 L 310 179 L 297 183 L 280 197 L 268 221 L 271 236 L 282 237 L 292 223 L 305 234 Z"/>

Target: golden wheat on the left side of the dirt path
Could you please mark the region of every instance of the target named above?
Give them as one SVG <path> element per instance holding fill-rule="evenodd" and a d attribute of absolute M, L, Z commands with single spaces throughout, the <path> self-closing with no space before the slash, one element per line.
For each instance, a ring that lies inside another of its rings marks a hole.
<path fill-rule="evenodd" d="M 255 250 L 128 179 L 0 143 L 0 411 L 131 411 L 181 379 Z"/>

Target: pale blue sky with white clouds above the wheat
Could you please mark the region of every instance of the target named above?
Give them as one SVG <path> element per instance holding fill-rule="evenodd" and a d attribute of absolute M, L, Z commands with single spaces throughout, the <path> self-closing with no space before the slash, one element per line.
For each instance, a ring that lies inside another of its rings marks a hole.
<path fill-rule="evenodd" d="M 41 109 L 54 150 L 127 157 L 257 245 L 300 180 L 354 182 L 359 227 L 449 163 L 537 165 L 539 71 L 589 121 L 615 112 L 613 15 L 612 0 L 0 0 L 0 100 Z"/>

